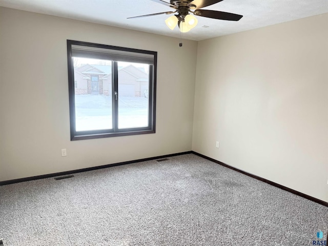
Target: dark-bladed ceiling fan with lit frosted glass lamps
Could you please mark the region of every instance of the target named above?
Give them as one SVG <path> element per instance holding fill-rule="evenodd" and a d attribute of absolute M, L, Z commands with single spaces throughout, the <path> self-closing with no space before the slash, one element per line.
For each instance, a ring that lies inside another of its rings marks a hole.
<path fill-rule="evenodd" d="M 161 13 L 154 13 L 154 14 L 146 14 L 146 15 L 139 15 L 130 18 L 140 18 L 140 17 L 147 17 L 159 14 L 175 14 L 165 20 L 166 25 L 173 30 L 176 25 L 178 25 L 180 32 L 189 32 L 192 28 L 197 25 L 198 20 L 195 18 L 194 15 L 208 17 L 213 19 L 223 19 L 223 20 L 234 20 L 238 21 L 241 19 L 242 15 L 227 13 L 222 11 L 216 10 L 207 10 L 201 9 L 219 2 L 223 0 L 170 0 L 170 3 L 167 3 L 162 0 L 151 0 L 153 2 L 166 5 L 174 9 L 174 11 L 167 11 Z M 192 14 L 190 14 L 192 13 Z"/>

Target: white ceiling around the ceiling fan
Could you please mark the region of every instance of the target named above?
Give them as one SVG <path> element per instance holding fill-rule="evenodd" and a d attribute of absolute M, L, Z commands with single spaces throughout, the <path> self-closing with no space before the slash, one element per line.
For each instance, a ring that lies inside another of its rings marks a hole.
<path fill-rule="evenodd" d="M 172 31 L 166 26 L 165 19 L 169 17 L 166 14 L 127 19 L 173 10 L 151 0 L 0 0 L 0 6 L 180 37 L 177 27 Z M 203 9 L 243 17 L 238 22 L 231 22 L 196 16 L 198 25 L 183 33 L 184 39 L 203 40 L 328 13 L 328 0 L 224 0 Z"/>

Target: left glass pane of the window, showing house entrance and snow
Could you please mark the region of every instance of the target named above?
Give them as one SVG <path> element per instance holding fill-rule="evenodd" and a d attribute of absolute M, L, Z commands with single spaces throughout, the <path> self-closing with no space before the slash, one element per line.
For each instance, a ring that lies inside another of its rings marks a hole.
<path fill-rule="evenodd" d="M 112 61 L 73 57 L 76 131 L 112 129 Z"/>

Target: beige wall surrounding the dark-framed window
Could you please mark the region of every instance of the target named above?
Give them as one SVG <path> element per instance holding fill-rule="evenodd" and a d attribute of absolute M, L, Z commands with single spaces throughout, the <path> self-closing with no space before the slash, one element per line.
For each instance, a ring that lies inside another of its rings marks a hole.
<path fill-rule="evenodd" d="M 66 39 L 158 52 L 155 134 L 70 141 Z M 0 181 L 190 151 L 195 50 L 190 40 L 179 48 L 176 38 L 0 8 Z"/>

